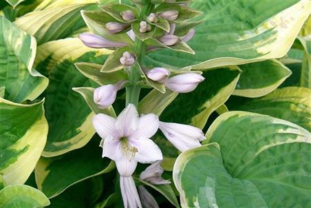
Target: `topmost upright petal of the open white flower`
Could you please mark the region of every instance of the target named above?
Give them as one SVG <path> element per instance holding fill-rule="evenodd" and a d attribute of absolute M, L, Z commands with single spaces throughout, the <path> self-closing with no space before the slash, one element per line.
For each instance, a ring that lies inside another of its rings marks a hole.
<path fill-rule="evenodd" d="M 121 137 L 127 137 L 131 132 L 136 131 L 138 128 L 138 112 L 135 105 L 130 103 L 125 110 L 119 114 L 116 127 L 118 128 Z"/>

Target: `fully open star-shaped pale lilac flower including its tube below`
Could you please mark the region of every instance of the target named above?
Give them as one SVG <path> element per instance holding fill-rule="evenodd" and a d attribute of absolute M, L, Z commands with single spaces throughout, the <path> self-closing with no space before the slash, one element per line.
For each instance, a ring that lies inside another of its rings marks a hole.
<path fill-rule="evenodd" d="M 149 139 L 158 130 L 158 116 L 147 114 L 139 117 L 135 105 L 129 104 L 118 118 L 97 114 L 93 125 L 103 138 L 103 157 L 116 162 L 125 207 L 142 207 L 131 175 L 138 162 L 162 160 L 160 148 Z"/>

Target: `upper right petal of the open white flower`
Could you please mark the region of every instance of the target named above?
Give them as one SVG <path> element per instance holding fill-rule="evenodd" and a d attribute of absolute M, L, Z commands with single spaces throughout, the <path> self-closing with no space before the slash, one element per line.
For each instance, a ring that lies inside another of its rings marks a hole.
<path fill-rule="evenodd" d="M 133 132 L 129 138 L 150 138 L 159 128 L 159 118 L 156 114 L 147 114 L 141 116 L 138 121 L 138 129 Z"/>

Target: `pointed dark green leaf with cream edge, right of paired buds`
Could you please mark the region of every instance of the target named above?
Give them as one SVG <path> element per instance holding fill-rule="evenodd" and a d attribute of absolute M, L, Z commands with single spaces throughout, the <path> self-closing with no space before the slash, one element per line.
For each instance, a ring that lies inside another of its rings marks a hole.
<path fill-rule="evenodd" d="M 233 94 L 250 98 L 272 92 L 292 74 L 288 67 L 275 59 L 239 65 L 239 68 L 242 74 Z"/>

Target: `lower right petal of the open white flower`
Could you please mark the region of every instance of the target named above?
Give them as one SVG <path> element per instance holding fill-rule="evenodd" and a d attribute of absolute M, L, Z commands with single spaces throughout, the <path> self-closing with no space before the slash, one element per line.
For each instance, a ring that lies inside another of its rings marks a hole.
<path fill-rule="evenodd" d="M 154 163 L 163 159 L 160 148 L 149 138 L 129 138 L 128 142 L 138 149 L 134 159 L 139 163 Z"/>

